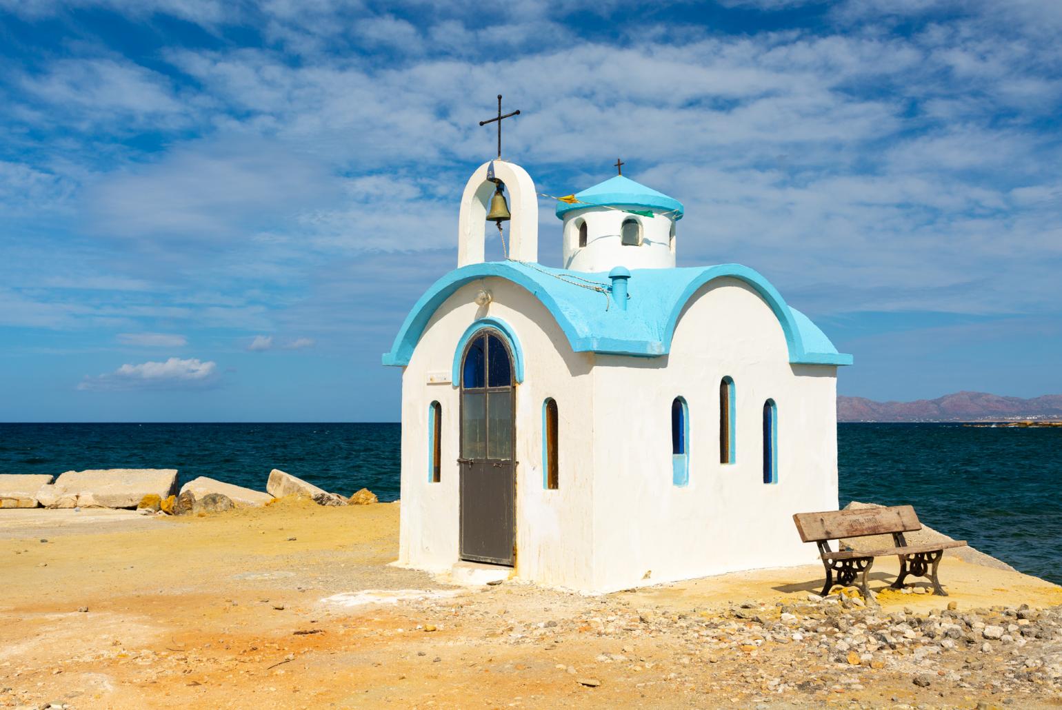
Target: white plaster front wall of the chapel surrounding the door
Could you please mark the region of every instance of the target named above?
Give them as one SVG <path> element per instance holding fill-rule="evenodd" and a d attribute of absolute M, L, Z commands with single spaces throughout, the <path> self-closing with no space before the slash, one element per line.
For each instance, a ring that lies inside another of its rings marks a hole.
<path fill-rule="evenodd" d="M 492 294 L 487 307 L 476 294 Z M 504 321 L 524 351 L 516 386 L 516 574 L 546 585 L 592 587 L 594 386 L 592 353 L 575 353 L 548 310 L 510 281 L 486 278 L 451 295 L 430 319 L 402 373 L 399 565 L 442 571 L 459 558 L 460 389 L 450 383 L 453 353 L 476 319 Z M 445 384 L 428 384 L 444 376 Z M 560 488 L 543 485 L 542 408 L 558 402 Z M 428 480 L 428 406 L 443 409 L 440 483 Z"/>

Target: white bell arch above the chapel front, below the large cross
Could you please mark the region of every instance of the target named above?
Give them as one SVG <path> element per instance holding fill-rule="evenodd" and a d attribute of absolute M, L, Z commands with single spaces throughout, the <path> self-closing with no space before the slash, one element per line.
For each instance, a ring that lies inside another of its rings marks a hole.
<path fill-rule="evenodd" d="M 509 196 L 509 258 L 538 261 L 538 196 L 534 181 L 515 162 L 494 159 L 480 166 L 465 184 L 458 219 L 458 267 L 483 262 L 486 211 L 497 187 L 493 180 L 500 180 Z"/>

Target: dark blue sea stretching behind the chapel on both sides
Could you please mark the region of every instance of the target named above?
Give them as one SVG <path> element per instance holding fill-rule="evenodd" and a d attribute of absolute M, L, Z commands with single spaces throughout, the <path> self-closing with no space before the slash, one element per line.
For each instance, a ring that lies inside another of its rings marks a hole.
<path fill-rule="evenodd" d="M 0 473 L 175 468 L 178 483 L 206 475 L 264 490 L 279 468 L 393 501 L 400 433 L 397 423 L 0 423 Z M 926 525 L 1062 584 L 1062 429 L 839 423 L 837 438 L 839 505 L 910 503 Z"/>

